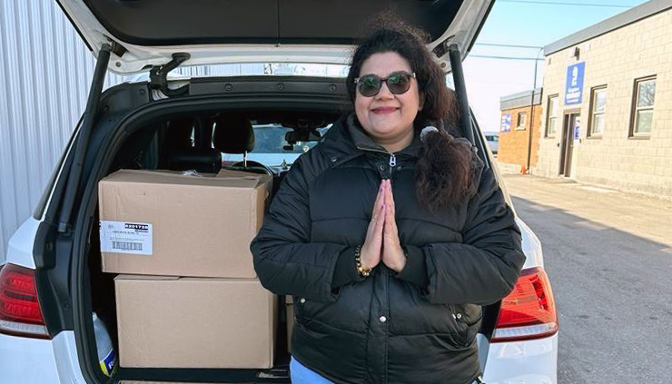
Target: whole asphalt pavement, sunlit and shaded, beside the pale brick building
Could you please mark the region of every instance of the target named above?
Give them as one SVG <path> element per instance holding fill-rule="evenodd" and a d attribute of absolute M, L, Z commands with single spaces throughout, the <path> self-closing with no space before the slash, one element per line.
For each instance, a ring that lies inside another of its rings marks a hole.
<path fill-rule="evenodd" d="M 672 383 L 672 200 L 505 174 L 559 317 L 558 384 Z"/>

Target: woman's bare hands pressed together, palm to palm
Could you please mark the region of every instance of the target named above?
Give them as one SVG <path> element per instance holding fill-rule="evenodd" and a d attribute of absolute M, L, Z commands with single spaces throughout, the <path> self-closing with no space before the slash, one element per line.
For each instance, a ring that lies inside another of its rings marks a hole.
<path fill-rule="evenodd" d="M 373 204 L 366 240 L 361 246 L 362 267 L 372 269 L 382 261 L 390 270 L 399 273 L 406 265 L 406 255 L 401 248 L 394 214 L 392 184 L 390 180 L 382 180 Z"/>

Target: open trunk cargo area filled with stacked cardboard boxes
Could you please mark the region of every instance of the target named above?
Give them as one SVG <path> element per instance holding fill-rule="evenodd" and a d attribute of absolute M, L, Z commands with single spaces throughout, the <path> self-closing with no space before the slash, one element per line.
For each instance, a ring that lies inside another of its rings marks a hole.
<path fill-rule="evenodd" d="M 87 254 L 112 382 L 289 383 L 292 316 L 249 251 L 277 175 L 137 168 L 99 182 Z"/>

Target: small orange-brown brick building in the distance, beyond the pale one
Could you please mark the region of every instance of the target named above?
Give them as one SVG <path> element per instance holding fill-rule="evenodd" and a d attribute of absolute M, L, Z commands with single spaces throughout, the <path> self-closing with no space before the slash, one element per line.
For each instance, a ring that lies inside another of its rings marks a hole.
<path fill-rule="evenodd" d="M 499 99 L 499 168 L 527 172 L 537 164 L 539 126 L 541 125 L 541 89 L 511 94 Z"/>

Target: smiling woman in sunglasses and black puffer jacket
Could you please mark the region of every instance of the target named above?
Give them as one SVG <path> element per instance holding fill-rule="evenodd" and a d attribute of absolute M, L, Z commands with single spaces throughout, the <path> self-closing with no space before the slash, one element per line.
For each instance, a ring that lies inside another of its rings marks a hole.
<path fill-rule="evenodd" d="M 372 34 L 347 86 L 355 113 L 292 164 L 252 241 L 295 303 L 292 382 L 471 383 L 480 306 L 525 260 L 513 213 L 469 143 L 423 130 L 454 107 L 416 31 Z"/>

